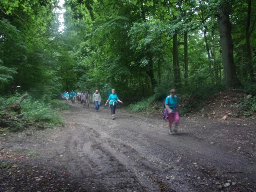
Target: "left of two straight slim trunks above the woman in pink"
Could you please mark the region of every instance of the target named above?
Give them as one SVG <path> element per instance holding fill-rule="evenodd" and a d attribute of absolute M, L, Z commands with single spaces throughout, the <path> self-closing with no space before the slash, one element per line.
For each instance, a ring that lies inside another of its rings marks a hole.
<path fill-rule="evenodd" d="M 179 65 L 179 56 L 178 56 L 177 34 L 173 36 L 172 58 L 173 58 L 174 85 L 175 87 L 179 88 L 181 86 L 181 80 L 180 80 L 180 65 Z"/>

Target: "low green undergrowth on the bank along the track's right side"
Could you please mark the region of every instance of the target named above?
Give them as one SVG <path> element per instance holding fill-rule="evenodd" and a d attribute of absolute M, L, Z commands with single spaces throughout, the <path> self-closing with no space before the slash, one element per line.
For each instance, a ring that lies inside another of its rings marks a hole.
<path fill-rule="evenodd" d="M 136 103 L 128 105 L 128 109 L 132 112 L 152 112 L 157 109 L 160 112 L 169 90 L 173 88 L 171 84 L 168 86 L 159 86 L 154 89 L 155 94 L 144 98 Z M 190 114 L 198 112 L 205 105 L 205 101 L 213 96 L 226 90 L 223 84 L 204 84 L 196 86 L 188 86 L 176 89 L 176 94 L 179 98 L 180 114 Z M 235 90 L 234 90 L 235 91 Z M 237 90 L 236 90 L 237 91 Z M 242 91 L 242 90 L 240 90 Z M 234 104 L 233 108 L 239 108 L 244 116 L 256 114 L 256 84 L 246 84 L 243 89 L 247 94 L 254 95 L 252 98 L 244 98 L 240 104 Z M 158 105 L 158 107 L 156 107 Z"/>

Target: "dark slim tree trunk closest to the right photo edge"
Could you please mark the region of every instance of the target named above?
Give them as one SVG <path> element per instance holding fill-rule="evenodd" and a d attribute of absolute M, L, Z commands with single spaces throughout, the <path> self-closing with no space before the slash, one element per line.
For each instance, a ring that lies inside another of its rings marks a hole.
<path fill-rule="evenodd" d="M 251 82 L 255 82 L 255 76 L 254 76 L 254 64 L 253 64 L 253 52 L 252 52 L 252 46 L 250 42 L 250 22 L 251 22 L 251 6 L 252 1 L 247 0 L 248 3 L 248 10 L 247 10 L 247 22 L 246 22 L 246 52 L 248 57 L 248 68 L 249 68 L 249 74 L 250 74 L 250 80 Z"/>

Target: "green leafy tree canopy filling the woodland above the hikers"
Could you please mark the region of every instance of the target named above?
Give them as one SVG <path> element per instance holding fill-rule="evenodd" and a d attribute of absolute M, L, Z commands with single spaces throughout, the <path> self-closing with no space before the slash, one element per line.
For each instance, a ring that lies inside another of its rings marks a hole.
<path fill-rule="evenodd" d="M 224 88 L 217 14 L 218 7 L 225 2 L 232 1 L 68 0 L 64 14 L 66 29 L 58 32 L 58 14 L 54 11 L 57 1 L 2 0 L 0 92 L 13 93 L 19 85 L 19 91 L 30 92 L 32 98 L 40 101 L 33 102 L 47 109 L 51 107 L 44 104 L 49 102 L 66 108 L 52 98 L 71 90 L 92 93 L 98 89 L 104 98 L 115 88 L 126 103 L 147 98 L 131 105 L 134 111 L 142 111 L 152 98 L 163 100 L 171 88 L 176 88 L 178 94 L 192 95 L 194 100 L 204 99 Z M 239 67 L 239 79 L 247 84 L 249 68 L 244 31 L 248 4 L 235 2 L 229 15 L 236 26 L 232 29 L 235 63 Z M 252 2 L 252 10 L 255 8 Z M 255 16 L 252 12 L 253 48 Z M 187 69 L 184 33 L 188 34 Z M 178 40 L 181 87 L 174 87 L 174 35 Z M 245 86 L 248 93 L 256 94 L 255 90 L 254 85 Z M 196 108 L 195 103 L 188 103 Z M 47 121 L 47 113 L 33 107 L 36 116 L 42 113 L 39 121 Z M 32 113 L 28 115 L 31 117 Z"/>

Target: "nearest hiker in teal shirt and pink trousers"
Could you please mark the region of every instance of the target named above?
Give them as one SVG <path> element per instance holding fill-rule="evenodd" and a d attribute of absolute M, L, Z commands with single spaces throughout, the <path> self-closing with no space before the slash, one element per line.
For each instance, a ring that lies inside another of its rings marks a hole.
<path fill-rule="evenodd" d="M 166 97 L 165 100 L 165 110 L 168 114 L 168 125 L 169 125 L 169 134 L 177 133 L 178 124 L 180 121 L 178 114 L 178 97 L 175 95 L 176 90 L 171 89 L 170 95 Z M 173 123 L 173 125 L 172 125 Z"/>

